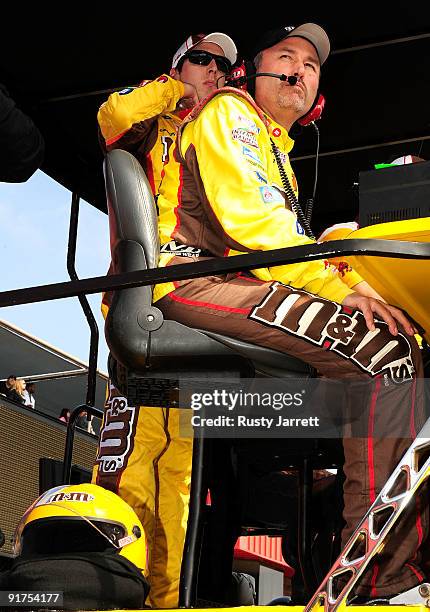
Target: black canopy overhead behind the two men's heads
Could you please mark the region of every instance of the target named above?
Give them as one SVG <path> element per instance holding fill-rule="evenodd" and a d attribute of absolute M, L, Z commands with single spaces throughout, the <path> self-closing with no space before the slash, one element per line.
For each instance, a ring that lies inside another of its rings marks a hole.
<path fill-rule="evenodd" d="M 140 12 L 131 10 L 138 5 L 125 4 L 103 14 L 100 9 L 92 22 L 82 8 L 46 21 L 40 13 L 32 21 L 27 13 L 19 30 L 3 22 L 0 80 L 44 134 L 43 170 L 104 210 L 96 114 L 110 90 L 167 71 L 191 32 L 226 32 L 240 54 L 249 56 L 262 30 L 319 23 L 333 50 L 321 83 L 327 104 L 319 124 L 315 210 L 316 225 L 327 226 L 356 216 L 360 170 L 405 154 L 430 159 L 430 8 L 355 2 L 334 10 L 334 3 L 326 4 L 317 10 L 262 4 L 255 10 L 254 3 L 238 3 L 227 11 L 219 3 L 187 3 L 172 12 L 160 5 L 158 18 L 146 16 L 143 3 Z M 200 13 L 207 17 L 199 19 Z M 293 165 L 306 198 L 312 193 L 316 139 L 311 128 L 293 136 Z"/>

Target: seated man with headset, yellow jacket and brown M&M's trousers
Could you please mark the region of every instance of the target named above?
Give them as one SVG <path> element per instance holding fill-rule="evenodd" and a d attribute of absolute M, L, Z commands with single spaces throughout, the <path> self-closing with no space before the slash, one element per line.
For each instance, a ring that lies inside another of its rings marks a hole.
<path fill-rule="evenodd" d="M 314 241 L 291 196 L 297 183 L 288 131 L 311 108 L 329 52 L 315 24 L 268 32 L 255 65 L 278 77 L 256 78 L 255 101 L 224 89 L 188 116 L 178 135 L 181 189 L 168 165 L 158 198 L 160 266 Z M 192 259 L 180 256 L 183 245 L 193 247 Z M 322 261 L 165 283 L 154 301 L 166 318 L 367 385 L 366 431 L 343 439 L 345 544 L 424 422 L 422 361 L 406 316 L 350 289 Z M 422 582 L 418 549 L 427 529 L 427 509 L 409 509 L 356 593 L 390 598 Z"/>

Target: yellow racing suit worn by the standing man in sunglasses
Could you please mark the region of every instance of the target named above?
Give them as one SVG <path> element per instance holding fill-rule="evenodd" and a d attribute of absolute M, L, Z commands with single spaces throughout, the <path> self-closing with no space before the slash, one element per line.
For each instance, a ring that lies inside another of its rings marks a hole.
<path fill-rule="evenodd" d="M 175 112 L 182 82 L 162 75 L 113 93 L 98 122 L 104 150 L 124 149 L 141 163 L 154 195 L 173 159 L 178 126 L 189 111 Z M 109 295 L 102 311 L 107 314 Z M 178 604 L 179 572 L 188 517 L 192 440 L 182 439 L 179 411 L 128 406 L 112 385 L 106 402 L 93 482 L 119 494 L 138 514 L 148 542 L 149 599 L 157 608 Z"/>

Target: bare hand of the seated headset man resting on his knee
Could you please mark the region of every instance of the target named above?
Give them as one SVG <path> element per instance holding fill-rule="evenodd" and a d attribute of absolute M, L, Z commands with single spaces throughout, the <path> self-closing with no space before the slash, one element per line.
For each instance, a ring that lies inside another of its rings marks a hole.
<path fill-rule="evenodd" d="M 390 304 L 383 304 L 374 298 L 365 297 L 359 293 L 351 293 L 346 296 L 342 305 L 348 306 L 348 308 L 361 310 L 370 331 L 375 330 L 373 315 L 376 314 L 387 323 L 388 329 L 393 336 L 397 336 L 398 324 L 400 324 L 410 336 L 417 333 L 417 330 L 399 308 L 391 306 Z"/>

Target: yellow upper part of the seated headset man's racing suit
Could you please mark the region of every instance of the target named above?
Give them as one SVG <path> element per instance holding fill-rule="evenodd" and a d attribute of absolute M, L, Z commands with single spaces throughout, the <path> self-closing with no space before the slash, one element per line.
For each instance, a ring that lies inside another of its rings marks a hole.
<path fill-rule="evenodd" d="M 181 245 L 225 257 L 312 243 L 286 204 L 271 153 L 272 140 L 297 194 L 288 157 L 294 141 L 287 130 L 264 115 L 250 96 L 236 89 L 215 93 L 205 101 L 205 113 L 200 115 L 202 107 L 196 107 L 181 127 L 179 153 L 184 164 L 179 168 L 179 188 L 176 172 L 166 169 L 157 200 L 160 240 L 162 251 L 166 251 L 160 265 L 180 255 Z M 205 163 L 200 163 L 195 142 Z M 186 167 L 195 168 L 195 182 L 186 176 Z M 200 201 L 203 211 L 197 208 Z M 260 268 L 253 274 L 263 281 L 278 280 L 337 302 L 351 293 L 338 278 L 337 270 L 322 261 Z M 158 285 L 154 301 L 174 288 L 173 283 Z"/>

